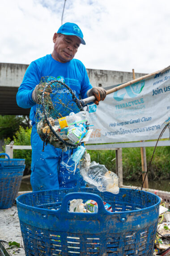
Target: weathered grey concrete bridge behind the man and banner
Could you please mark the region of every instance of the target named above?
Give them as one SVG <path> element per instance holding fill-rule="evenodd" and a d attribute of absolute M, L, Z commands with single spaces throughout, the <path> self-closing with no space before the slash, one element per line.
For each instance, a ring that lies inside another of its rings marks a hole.
<path fill-rule="evenodd" d="M 0 115 L 29 115 L 30 109 L 17 106 L 16 94 L 28 65 L 0 63 Z M 133 79 L 132 72 L 87 69 L 92 86 L 103 88 Z M 136 78 L 145 75 L 136 73 Z"/>

